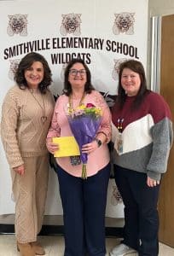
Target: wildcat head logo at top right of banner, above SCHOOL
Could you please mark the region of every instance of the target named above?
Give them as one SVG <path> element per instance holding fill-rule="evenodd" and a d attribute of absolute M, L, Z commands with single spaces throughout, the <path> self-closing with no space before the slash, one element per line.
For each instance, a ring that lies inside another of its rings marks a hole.
<path fill-rule="evenodd" d="M 135 13 L 115 14 L 113 34 L 119 35 L 119 33 L 125 32 L 127 35 L 133 35 L 135 22 L 134 15 Z"/>

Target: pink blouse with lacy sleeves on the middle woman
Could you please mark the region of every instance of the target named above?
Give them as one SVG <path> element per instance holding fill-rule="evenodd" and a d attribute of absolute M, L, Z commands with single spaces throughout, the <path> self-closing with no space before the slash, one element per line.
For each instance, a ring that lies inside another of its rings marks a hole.
<path fill-rule="evenodd" d="M 83 102 L 84 104 L 92 103 L 96 107 L 102 108 L 102 123 L 97 133 L 103 132 L 107 136 L 108 143 L 111 138 L 111 114 L 103 96 L 98 91 L 92 90 L 90 94 L 87 94 L 84 97 Z M 59 96 L 55 103 L 55 111 L 47 135 L 48 138 L 73 136 L 67 120 L 67 106 L 68 96 Z M 78 107 L 78 102 L 75 100 L 73 100 L 73 107 Z M 102 170 L 103 167 L 107 166 L 110 160 L 107 143 L 102 144 L 100 148 L 97 148 L 94 152 L 88 155 L 88 162 L 86 166 L 88 177 L 95 175 L 97 172 Z M 82 164 L 72 166 L 69 157 L 59 157 L 56 158 L 56 161 L 57 164 L 69 174 L 75 177 L 81 177 Z"/>

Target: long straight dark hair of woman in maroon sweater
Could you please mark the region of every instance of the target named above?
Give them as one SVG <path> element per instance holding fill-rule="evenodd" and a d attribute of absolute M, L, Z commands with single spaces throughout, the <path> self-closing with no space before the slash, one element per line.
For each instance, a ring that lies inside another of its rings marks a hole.
<path fill-rule="evenodd" d="M 122 77 L 123 70 L 125 68 L 131 69 L 133 72 L 138 73 L 140 76 L 141 85 L 133 105 L 133 108 L 137 108 L 141 105 L 144 99 L 144 96 L 147 95 L 149 92 L 147 88 L 147 81 L 146 81 L 146 76 L 144 72 L 144 67 L 142 66 L 142 63 L 140 61 L 135 61 L 135 60 L 124 61 L 119 65 L 119 87 L 118 87 L 118 96 L 116 97 L 116 102 L 119 103 L 119 108 L 123 108 L 125 103 L 125 98 L 126 98 L 125 90 L 121 85 L 121 77 Z"/>

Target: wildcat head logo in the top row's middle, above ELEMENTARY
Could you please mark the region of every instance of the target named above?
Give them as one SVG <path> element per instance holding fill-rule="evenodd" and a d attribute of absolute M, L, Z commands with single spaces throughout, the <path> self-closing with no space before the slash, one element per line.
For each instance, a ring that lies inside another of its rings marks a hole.
<path fill-rule="evenodd" d="M 79 36 L 80 32 L 80 19 L 81 15 L 78 14 L 68 14 L 61 15 L 63 17 L 61 22 L 60 32 L 62 36 L 67 36 L 67 33 L 73 34 L 74 36 Z"/>

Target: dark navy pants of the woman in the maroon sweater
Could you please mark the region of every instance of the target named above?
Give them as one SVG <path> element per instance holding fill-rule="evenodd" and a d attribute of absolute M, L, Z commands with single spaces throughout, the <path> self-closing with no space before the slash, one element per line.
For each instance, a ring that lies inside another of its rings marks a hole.
<path fill-rule="evenodd" d="M 140 256 L 159 253 L 159 185 L 150 188 L 147 174 L 114 166 L 115 182 L 125 204 L 124 241 Z"/>

